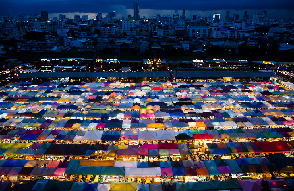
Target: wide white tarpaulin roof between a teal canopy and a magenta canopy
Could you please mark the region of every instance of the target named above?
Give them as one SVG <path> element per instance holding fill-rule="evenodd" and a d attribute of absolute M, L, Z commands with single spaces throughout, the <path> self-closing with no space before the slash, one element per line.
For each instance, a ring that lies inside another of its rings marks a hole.
<path fill-rule="evenodd" d="M 158 168 L 130 168 L 126 167 L 126 177 L 156 177 L 161 176 L 161 169 Z"/>

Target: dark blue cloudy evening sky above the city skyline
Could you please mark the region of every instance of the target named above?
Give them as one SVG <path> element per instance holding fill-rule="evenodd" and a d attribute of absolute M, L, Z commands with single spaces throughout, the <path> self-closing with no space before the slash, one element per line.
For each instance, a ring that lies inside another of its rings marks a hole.
<path fill-rule="evenodd" d="M 106 16 L 107 12 L 116 11 L 117 18 L 133 15 L 134 0 L 113 0 L 113 1 L 93 1 L 93 0 L 1 0 L 0 13 L 6 16 L 20 14 L 41 14 L 41 11 L 48 11 L 49 18 L 65 13 L 66 17 L 73 18 L 75 14 L 89 15 L 93 18 L 98 12 Z M 214 13 L 221 14 L 221 19 L 225 17 L 225 10 L 230 10 L 232 14 L 239 14 L 243 17 L 244 10 L 248 15 L 268 10 L 269 17 L 294 18 L 293 0 L 149 0 L 138 1 L 140 3 L 140 16 L 153 17 L 153 15 L 172 15 L 174 10 L 182 14 L 182 9 L 186 9 L 187 19 L 193 15 L 209 16 Z"/>

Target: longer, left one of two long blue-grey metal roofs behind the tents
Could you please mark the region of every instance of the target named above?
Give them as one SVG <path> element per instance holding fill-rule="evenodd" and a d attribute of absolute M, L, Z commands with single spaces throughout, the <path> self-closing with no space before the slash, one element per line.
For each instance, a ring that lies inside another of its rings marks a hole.
<path fill-rule="evenodd" d="M 19 78 L 31 78 L 32 73 L 19 73 Z M 169 72 L 36 72 L 34 78 L 140 78 L 140 77 L 170 77 Z"/>

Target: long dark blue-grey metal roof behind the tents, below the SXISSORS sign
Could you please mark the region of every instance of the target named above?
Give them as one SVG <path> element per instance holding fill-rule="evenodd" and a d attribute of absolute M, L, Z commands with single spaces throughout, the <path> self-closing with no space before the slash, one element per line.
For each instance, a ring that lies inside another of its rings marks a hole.
<path fill-rule="evenodd" d="M 275 72 L 245 72 L 245 71 L 174 71 L 173 76 L 176 78 L 195 77 L 195 78 L 260 78 L 260 77 L 275 77 Z"/>

